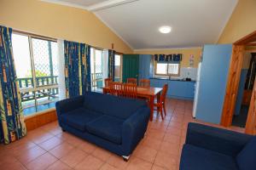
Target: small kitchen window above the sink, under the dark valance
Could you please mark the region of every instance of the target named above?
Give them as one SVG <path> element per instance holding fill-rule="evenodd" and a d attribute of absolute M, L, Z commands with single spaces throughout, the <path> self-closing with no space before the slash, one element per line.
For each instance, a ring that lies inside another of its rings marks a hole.
<path fill-rule="evenodd" d="M 179 75 L 179 64 L 177 63 L 156 63 L 156 75 Z"/>

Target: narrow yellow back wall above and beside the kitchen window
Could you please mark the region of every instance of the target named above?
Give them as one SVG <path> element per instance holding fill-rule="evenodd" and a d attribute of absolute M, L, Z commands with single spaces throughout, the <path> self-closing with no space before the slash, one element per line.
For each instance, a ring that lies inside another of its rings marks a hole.
<path fill-rule="evenodd" d="M 201 48 L 171 48 L 171 49 L 155 49 L 155 50 L 136 50 L 135 54 L 183 54 L 181 67 L 189 67 L 189 56 L 194 54 L 194 66 L 197 68 L 201 60 Z"/>

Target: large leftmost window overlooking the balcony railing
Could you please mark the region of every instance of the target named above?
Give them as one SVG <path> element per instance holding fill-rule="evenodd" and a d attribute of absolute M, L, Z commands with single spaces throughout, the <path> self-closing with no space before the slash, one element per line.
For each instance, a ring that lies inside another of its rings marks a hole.
<path fill-rule="evenodd" d="M 55 107 L 59 96 L 57 43 L 16 33 L 12 43 L 24 115 Z"/>

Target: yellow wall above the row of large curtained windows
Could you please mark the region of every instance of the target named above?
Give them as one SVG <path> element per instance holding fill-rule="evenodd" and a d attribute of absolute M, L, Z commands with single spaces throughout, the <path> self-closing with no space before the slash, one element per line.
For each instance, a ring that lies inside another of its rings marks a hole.
<path fill-rule="evenodd" d="M 41 36 L 85 42 L 99 48 L 132 53 L 95 14 L 39 0 L 0 0 L 0 25 Z"/>

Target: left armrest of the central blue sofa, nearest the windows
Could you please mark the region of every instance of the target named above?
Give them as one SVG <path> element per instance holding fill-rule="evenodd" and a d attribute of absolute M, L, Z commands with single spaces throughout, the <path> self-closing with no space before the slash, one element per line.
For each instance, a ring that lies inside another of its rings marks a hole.
<path fill-rule="evenodd" d="M 57 101 L 56 111 L 57 115 L 60 116 L 61 114 L 67 112 L 67 111 L 73 111 L 79 107 L 81 107 L 84 104 L 84 96 L 80 95 L 77 97 L 73 97 L 70 99 L 62 99 L 60 101 Z"/>

